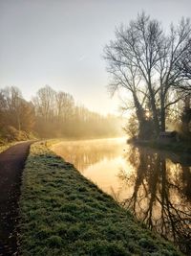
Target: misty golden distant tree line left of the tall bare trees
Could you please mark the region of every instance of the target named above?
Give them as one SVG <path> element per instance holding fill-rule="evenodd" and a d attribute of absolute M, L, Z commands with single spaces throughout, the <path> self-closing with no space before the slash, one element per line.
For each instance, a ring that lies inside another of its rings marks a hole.
<path fill-rule="evenodd" d="M 17 87 L 0 90 L 0 138 L 92 138 L 120 134 L 116 116 L 102 116 L 76 105 L 72 95 L 50 86 L 40 88 L 31 102 Z"/>

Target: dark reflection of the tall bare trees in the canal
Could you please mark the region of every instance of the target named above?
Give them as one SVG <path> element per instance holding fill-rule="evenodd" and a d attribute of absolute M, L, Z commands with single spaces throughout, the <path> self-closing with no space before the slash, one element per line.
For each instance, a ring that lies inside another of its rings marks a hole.
<path fill-rule="evenodd" d="M 189 254 L 191 168 L 175 165 L 146 149 L 132 149 L 126 157 L 136 172 L 119 174 L 126 185 L 134 187 L 133 194 L 123 204 L 131 208 L 139 220 Z"/>

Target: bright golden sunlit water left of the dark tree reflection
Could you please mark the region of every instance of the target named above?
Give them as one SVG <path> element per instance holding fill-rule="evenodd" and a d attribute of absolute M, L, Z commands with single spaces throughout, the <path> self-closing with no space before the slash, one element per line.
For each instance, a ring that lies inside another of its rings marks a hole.
<path fill-rule="evenodd" d="M 123 198 L 127 196 L 127 191 L 123 191 L 118 173 L 121 170 L 133 172 L 133 167 L 127 165 L 123 157 L 128 148 L 126 138 L 115 138 L 61 142 L 53 146 L 53 151 L 72 162 L 77 170 L 104 192 L 117 193 L 119 198 Z"/>

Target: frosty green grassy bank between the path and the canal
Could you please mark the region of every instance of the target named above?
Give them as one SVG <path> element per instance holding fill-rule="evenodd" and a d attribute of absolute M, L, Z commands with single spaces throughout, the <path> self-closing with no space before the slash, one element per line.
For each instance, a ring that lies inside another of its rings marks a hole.
<path fill-rule="evenodd" d="M 21 255 L 180 255 L 46 145 L 32 145 L 23 175 Z"/>

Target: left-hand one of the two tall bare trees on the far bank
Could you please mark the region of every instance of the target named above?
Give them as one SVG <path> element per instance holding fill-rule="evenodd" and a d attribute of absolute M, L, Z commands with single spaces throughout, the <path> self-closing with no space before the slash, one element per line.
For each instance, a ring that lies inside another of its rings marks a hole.
<path fill-rule="evenodd" d="M 136 21 L 131 21 L 127 28 L 121 26 L 116 35 L 115 44 L 117 45 L 118 59 L 126 67 L 126 81 L 129 83 L 129 79 L 131 79 L 131 83 L 137 85 L 134 86 L 134 92 L 138 93 L 139 91 L 146 94 L 149 107 L 153 113 L 155 129 L 159 131 L 159 115 L 155 97 L 157 88 L 154 81 L 155 66 L 159 61 L 158 46 L 162 40 L 162 30 L 159 22 L 151 20 L 143 12 L 138 15 Z M 108 48 L 110 47 L 112 47 L 112 43 L 108 46 Z M 123 61 L 124 59 L 125 61 Z M 135 81 L 138 82 L 135 83 Z M 142 88 L 143 86 L 144 88 Z M 128 86 L 127 89 L 130 89 L 130 87 Z"/>

